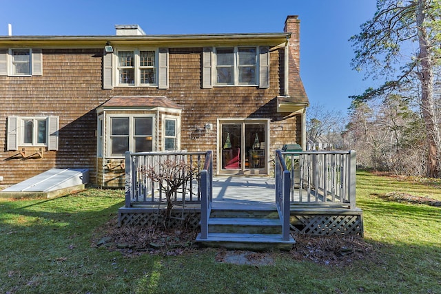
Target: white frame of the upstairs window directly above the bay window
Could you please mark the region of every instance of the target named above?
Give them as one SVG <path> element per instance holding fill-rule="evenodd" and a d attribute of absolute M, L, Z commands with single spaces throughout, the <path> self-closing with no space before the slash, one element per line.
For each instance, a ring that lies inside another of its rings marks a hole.
<path fill-rule="evenodd" d="M 119 66 L 119 52 L 131 51 L 134 54 L 133 67 L 120 67 Z M 154 66 L 141 66 L 140 65 L 140 52 L 141 51 L 153 51 L 154 52 Z M 118 48 L 115 52 L 115 85 L 118 87 L 157 87 L 158 86 L 158 48 Z M 134 83 L 120 83 L 120 70 L 126 68 L 134 68 Z M 153 68 L 154 69 L 154 83 L 141 83 L 141 70 Z"/>

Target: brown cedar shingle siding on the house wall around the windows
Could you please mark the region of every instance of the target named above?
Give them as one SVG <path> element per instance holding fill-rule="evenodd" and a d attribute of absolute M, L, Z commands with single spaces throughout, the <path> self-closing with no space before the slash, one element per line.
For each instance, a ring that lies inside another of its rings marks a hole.
<path fill-rule="evenodd" d="M 43 42 L 43 41 L 42 41 Z M 187 151 L 213 150 L 216 162 L 218 118 L 270 118 L 269 154 L 285 143 L 300 143 L 302 115 L 276 112 L 277 97 L 285 94 L 285 48 L 269 48 L 269 88 L 229 86 L 203 88 L 203 46 L 169 50 L 169 85 L 158 87 L 118 87 L 103 89 L 103 47 L 75 49 L 43 48 L 43 75 L 0 76 L 0 184 L 13 184 L 40 174 L 53 167 L 90 169 L 94 184 L 121 186 L 123 170 L 116 173 L 103 169 L 106 161 L 96 156 L 96 107 L 114 96 L 165 96 L 181 107 L 181 149 Z M 0 49 L 11 45 L 3 45 Z M 290 69 L 292 72 L 292 70 Z M 290 72 L 290 75 L 291 75 Z M 298 76 L 294 74 L 290 81 Z M 300 83 L 300 85 L 296 85 Z M 305 96 L 300 78 L 291 82 L 293 91 Z M 296 89 L 298 87 L 298 89 Z M 291 96 L 296 96 L 292 93 Z M 306 96 L 305 96 L 306 97 Z M 305 97 L 300 99 L 305 100 Z M 301 101 L 302 102 L 302 101 Z M 167 114 L 167 112 L 163 112 Z M 25 151 L 8 151 L 6 147 L 9 116 L 58 116 L 59 149 L 25 147 Z M 157 119 L 161 124 L 161 119 Z M 212 123 L 211 132 L 198 132 Z M 160 125 L 157 136 L 161 136 Z M 162 141 L 157 142 L 162 150 Z M 31 156 L 42 150 L 42 156 Z M 24 156 L 23 156 L 24 154 Z M 28 157 L 29 156 L 29 157 Z M 116 163 L 115 163 L 116 162 Z M 107 174 L 107 176 L 105 176 Z M 98 175 L 98 176 L 97 176 Z M 107 178 L 106 178 L 107 177 Z M 112 180 L 113 178 L 113 180 Z"/>

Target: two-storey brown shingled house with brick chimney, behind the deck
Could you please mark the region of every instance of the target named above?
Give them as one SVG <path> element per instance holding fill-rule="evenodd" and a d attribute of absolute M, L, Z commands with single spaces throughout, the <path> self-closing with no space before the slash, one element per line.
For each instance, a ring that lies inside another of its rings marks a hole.
<path fill-rule="evenodd" d="M 299 25 L 284 32 L 0 36 L 0 184 L 87 168 L 124 185 L 125 151 L 214 152 L 216 174 L 269 174 L 305 148 Z"/>

